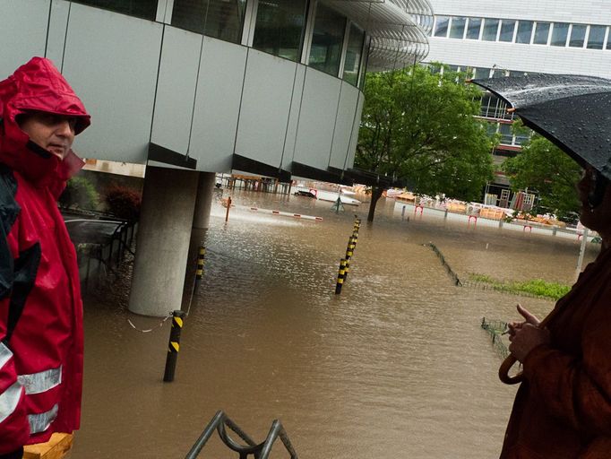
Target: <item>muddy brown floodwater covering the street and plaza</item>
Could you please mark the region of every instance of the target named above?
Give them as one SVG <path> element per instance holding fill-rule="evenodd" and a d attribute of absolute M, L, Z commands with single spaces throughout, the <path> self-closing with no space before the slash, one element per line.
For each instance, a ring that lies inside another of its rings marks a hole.
<path fill-rule="evenodd" d="M 517 319 L 518 301 L 545 316 L 553 302 L 455 287 L 424 244 L 435 243 L 460 279 L 570 283 L 576 238 L 402 221 L 392 200 L 370 225 L 367 205 L 336 214 L 300 196 L 233 197 L 260 211 L 237 207 L 225 223 L 213 205 L 173 383 L 162 382 L 170 321 L 127 311 L 129 264 L 119 278 L 90 282 L 72 459 L 185 457 L 218 410 L 259 441 L 280 419 L 301 458 L 498 456 L 516 387 L 498 381 L 501 358 L 481 319 Z M 337 296 L 355 212 L 363 222 Z M 586 262 L 598 249 L 589 244 Z M 273 451 L 288 456 L 280 442 Z M 237 455 L 215 435 L 200 457 Z"/>

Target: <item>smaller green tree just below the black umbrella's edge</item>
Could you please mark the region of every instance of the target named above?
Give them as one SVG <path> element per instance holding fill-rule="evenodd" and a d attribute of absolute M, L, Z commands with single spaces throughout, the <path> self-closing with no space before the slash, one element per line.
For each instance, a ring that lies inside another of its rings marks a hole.
<path fill-rule="evenodd" d="M 521 125 L 517 129 L 525 129 Z M 581 167 L 545 137 L 534 134 L 522 151 L 503 162 L 503 171 L 510 179 L 512 190 L 538 192 L 534 212 L 551 212 L 560 220 L 566 220 L 581 207 L 575 184 L 579 181 Z"/>

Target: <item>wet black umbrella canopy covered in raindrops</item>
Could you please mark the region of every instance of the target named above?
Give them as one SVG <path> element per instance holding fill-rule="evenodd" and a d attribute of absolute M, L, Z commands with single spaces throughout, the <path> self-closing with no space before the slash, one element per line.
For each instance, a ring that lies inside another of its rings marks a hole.
<path fill-rule="evenodd" d="M 535 74 L 471 82 L 507 102 L 525 126 L 581 167 L 590 165 L 611 179 L 611 80 Z"/>

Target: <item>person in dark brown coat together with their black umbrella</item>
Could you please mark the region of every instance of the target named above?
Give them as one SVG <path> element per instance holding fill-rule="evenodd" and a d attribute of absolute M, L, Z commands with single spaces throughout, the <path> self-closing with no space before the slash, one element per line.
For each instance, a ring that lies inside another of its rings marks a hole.
<path fill-rule="evenodd" d="M 503 364 L 500 376 L 521 386 L 500 457 L 611 457 L 611 81 L 534 75 L 473 82 L 581 164 L 580 220 L 602 238 L 596 260 L 544 321 L 518 306 L 524 320 L 510 325 L 509 350 L 522 373 L 507 377 Z M 597 103 L 606 106 L 602 113 Z"/>

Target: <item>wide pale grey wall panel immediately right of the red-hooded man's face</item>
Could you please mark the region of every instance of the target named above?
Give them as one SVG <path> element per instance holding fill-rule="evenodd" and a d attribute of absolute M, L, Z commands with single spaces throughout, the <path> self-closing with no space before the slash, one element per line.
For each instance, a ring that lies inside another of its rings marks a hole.
<path fill-rule="evenodd" d="M 72 4 L 64 74 L 92 114 L 75 144 L 83 156 L 146 160 L 161 35 L 159 23 Z"/>

